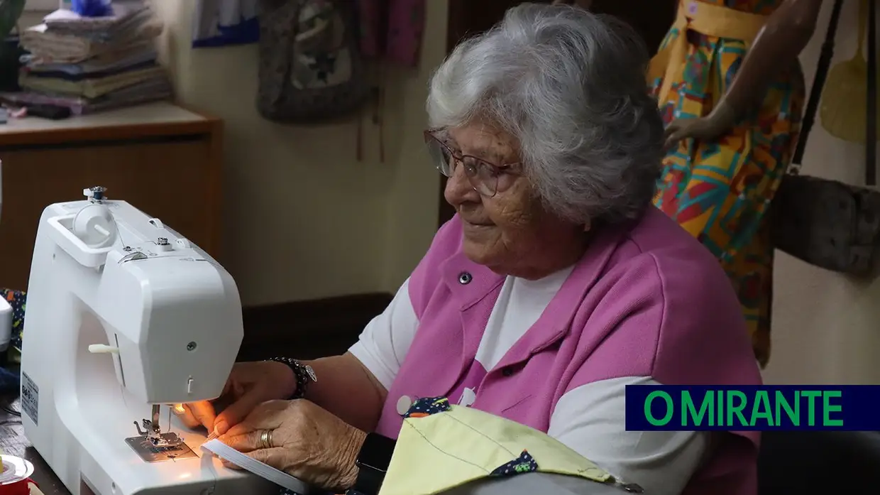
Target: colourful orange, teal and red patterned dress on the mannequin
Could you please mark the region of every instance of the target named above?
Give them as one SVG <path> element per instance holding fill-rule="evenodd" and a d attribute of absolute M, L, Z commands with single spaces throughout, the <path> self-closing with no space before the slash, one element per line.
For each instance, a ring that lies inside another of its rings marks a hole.
<path fill-rule="evenodd" d="M 708 0 L 769 15 L 783 0 Z M 679 7 L 681 8 L 681 7 Z M 708 115 L 743 63 L 743 41 L 671 29 L 661 46 L 687 36 L 686 63 L 659 102 L 667 124 Z M 652 81 L 655 94 L 663 78 Z M 743 306 L 759 362 L 770 354 L 774 247 L 767 207 L 788 168 L 800 129 L 803 74 L 793 64 L 770 85 L 763 104 L 715 142 L 687 139 L 669 151 L 656 206 L 715 254 Z"/>

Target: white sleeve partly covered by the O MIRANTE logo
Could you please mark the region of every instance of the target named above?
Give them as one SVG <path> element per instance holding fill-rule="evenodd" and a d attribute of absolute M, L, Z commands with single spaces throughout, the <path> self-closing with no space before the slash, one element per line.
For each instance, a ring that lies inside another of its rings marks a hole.
<path fill-rule="evenodd" d="M 649 377 L 600 380 L 569 390 L 550 418 L 551 437 L 652 495 L 679 495 L 708 452 L 711 432 L 627 432 L 627 385 Z"/>

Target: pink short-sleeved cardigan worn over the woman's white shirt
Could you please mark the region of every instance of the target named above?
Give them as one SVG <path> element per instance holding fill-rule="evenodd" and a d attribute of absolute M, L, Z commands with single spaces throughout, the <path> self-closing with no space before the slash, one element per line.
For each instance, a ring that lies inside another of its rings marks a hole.
<path fill-rule="evenodd" d="M 504 277 L 468 260 L 461 236 L 453 218 L 410 277 L 420 325 L 379 420 L 386 436 L 400 431 L 400 397 L 456 388 L 495 306 Z M 761 383 L 730 280 L 653 207 L 638 222 L 597 233 L 539 320 L 489 371 L 473 407 L 546 432 L 568 390 L 626 376 L 665 385 Z M 684 495 L 756 493 L 759 433 L 731 433 L 719 437 Z"/>

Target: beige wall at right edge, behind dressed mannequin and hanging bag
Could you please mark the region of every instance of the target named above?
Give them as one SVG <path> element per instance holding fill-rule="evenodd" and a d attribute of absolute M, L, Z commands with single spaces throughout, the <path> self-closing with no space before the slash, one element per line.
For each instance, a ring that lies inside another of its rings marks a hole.
<path fill-rule="evenodd" d="M 852 57 L 859 2 L 844 2 L 833 63 Z M 819 28 L 801 55 L 808 84 L 832 2 L 825 2 Z M 864 184 L 864 146 L 813 127 L 803 173 Z M 776 383 L 880 383 L 880 281 L 854 282 L 788 255 L 777 255 L 774 294 L 774 351 L 766 380 Z"/>

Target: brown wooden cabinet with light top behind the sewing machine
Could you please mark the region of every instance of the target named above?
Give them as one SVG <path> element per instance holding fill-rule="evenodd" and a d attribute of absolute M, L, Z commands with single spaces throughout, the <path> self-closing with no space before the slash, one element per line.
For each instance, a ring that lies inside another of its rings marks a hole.
<path fill-rule="evenodd" d="M 40 215 L 103 186 L 219 257 L 222 122 L 170 103 L 0 125 L 0 287 L 26 290 Z"/>

